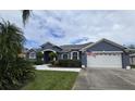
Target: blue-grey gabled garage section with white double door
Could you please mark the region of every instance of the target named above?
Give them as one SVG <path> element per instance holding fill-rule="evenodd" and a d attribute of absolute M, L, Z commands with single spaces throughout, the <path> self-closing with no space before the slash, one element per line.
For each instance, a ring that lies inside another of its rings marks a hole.
<path fill-rule="evenodd" d="M 101 39 L 82 49 L 82 66 L 100 68 L 126 68 L 130 66 L 127 48 L 108 39 Z"/>

